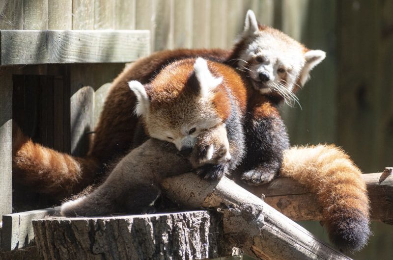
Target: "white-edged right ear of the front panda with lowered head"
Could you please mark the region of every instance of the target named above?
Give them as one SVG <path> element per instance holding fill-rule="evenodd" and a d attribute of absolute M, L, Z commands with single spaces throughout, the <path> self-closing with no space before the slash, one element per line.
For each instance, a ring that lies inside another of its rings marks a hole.
<path fill-rule="evenodd" d="M 209 95 L 210 90 L 221 84 L 223 78 L 215 78 L 207 67 L 207 62 L 203 58 L 197 58 L 194 63 L 194 73 L 197 77 L 200 94 L 202 97 Z"/>

